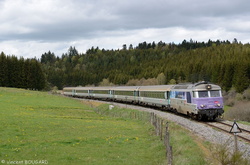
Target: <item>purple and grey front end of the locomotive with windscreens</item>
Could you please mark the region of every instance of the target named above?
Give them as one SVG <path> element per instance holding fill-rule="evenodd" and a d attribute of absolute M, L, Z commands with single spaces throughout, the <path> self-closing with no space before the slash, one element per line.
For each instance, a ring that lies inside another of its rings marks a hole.
<path fill-rule="evenodd" d="M 224 113 L 221 88 L 218 85 L 208 83 L 195 85 L 193 103 L 197 105 L 200 119 L 214 120 Z"/>

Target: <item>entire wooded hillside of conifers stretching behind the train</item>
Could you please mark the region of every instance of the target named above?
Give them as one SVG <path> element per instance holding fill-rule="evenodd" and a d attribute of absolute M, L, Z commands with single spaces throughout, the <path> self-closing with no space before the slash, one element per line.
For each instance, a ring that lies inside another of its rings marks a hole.
<path fill-rule="evenodd" d="M 191 39 L 180 44 L 124 44 L 119 50 L 92 47 L 86 53 L 70 47 L 61 56 L 48 51 L 38 60 L 2 53 L 0 67 L 0 86 L 38 90 L 54 86 L 138 85 L 147 80 L 146 85 L 204 80 L 219 84 L 225 91 L 234 87 L 243 92 L 250 84 L 250 44 L 237 39 Z"/>

